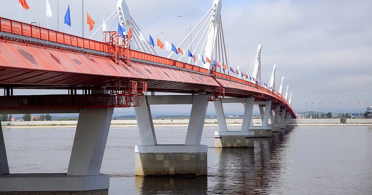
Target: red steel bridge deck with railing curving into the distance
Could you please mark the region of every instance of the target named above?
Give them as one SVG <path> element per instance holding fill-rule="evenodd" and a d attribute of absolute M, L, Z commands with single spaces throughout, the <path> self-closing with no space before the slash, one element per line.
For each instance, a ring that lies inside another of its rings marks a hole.
<path fill-rule="evenodd" d="M 1 24 L 0 29 L 4 31 Z M 227 96 L 254 96 L 292 110 L 280 94 L 218 72 L 210 75 L 208 69 L 198 66 L 133 50 L 130 66 L 117 65 L 104 49 L 61 45 L 53 40 L 42 42 L 32 36 L 16 34 L 18 37 L 0 35 L 2 87 L 104 87 L 115 81 L 130 80 L 147 82 L 149 91 L 212 93 L 215 88 L 224 87 Z M 101 43 L 94 42 L 94 45 Z"/>

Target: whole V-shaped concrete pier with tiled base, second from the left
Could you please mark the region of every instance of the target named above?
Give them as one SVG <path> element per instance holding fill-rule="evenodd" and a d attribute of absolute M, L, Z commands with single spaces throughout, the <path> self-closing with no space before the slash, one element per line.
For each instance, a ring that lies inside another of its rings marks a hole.
<path fill-rule="evenodd" d="M 157 144 L 150 105 L 192 104 L 185 144 Z M 207 174 L 208 147 L 201 145 L 208 95 L 147 96 L 135 107 L 142 145 L 135 146 L 135 175 Z"/>

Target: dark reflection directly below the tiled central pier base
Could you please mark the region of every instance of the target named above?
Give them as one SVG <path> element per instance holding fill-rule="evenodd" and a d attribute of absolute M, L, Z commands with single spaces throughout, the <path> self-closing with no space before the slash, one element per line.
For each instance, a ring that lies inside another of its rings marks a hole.
<path fill-rule="evenodd" d="M 135 194 L 206 194 L 207 176 L 136 176 Z"/>

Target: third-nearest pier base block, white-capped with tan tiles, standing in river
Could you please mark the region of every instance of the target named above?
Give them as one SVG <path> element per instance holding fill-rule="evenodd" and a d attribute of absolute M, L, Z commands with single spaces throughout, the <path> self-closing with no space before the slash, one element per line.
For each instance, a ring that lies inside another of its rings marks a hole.
<path fill-rule="evenodd" d="M 215 131 L 214 147 L 254 147 L 254 132 Z"/>

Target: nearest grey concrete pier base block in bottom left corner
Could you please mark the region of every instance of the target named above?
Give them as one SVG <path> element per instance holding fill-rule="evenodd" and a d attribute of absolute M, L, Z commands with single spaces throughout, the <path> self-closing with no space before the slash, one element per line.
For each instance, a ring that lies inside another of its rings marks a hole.
<path fill-rule="evenodd" d="M 19 173 L 0 176 L 0 194 L 22 192 L 22 194 L 83 194 L 83 191 L 99 190 L 108 192 L 110 176 L 99 175 L 67 175 L 66 173 Z M 57 193 L 58 191 L 74 191 Z M 76 192 L 76 193 L 75 193 Z M 98 193 L 99 194 L 99 193 Z"/>

